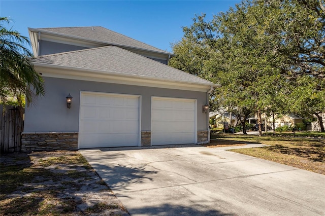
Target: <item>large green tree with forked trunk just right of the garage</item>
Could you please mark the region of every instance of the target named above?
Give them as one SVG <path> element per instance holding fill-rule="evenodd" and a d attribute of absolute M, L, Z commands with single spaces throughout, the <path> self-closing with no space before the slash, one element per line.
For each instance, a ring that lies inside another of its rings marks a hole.
<path fill-rule="evenodd" d="M 239 4 L 236 9 L 231 8 L 210 22 L 204 20 L 204 15 L 197 16 L 193 25 L 183 28 L 182 40 L 204 50 L 201 51 L 204 55 L 200 56 L 203 60 L 197 63 L 202 71 L 200 75 L 221 84 L 221 88 L 215 91 L 216 103 L 228 107 L 237 116 L 244 134 L 248 115 L 264 110 L 261 106 L 265 106 L 265 102 L 261 100 L 270 91 L 267 84 L 271 85 L 274 74 L 279 73 L 276 61 L 279 57 L 273 52 L 277 42 L 273 36 L 261 34 L 262 23 L 258 17 L 263 17 L 264 12 L 251 7 L 251 4 Z M 179 46 L 182 44 L 177 48 Z M 193 54 L 192 50 L 188 53 Z M 174 49 L 176 54 L 178 51 Z M 194 57 L 190 56 L 190 59 Z M 173 61 L 171 65 L 178 66 Z M 185 67 L 182 69 L 188 71 Z M 259 124 L 262 134 L 261 122 Z"/>

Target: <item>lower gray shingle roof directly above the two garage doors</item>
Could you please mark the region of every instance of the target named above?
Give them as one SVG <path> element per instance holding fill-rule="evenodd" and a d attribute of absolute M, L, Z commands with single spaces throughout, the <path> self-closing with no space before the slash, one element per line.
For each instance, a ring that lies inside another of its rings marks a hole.
<path fill-rule="evenodd" d="M 32 61 L 82 69 L 95 69 L 120 73 L 126 76 L 135 75 L 149 79 L 167 79 L 177 82 L 214 85 L 212 82 L 187 74 L 182 70 L 115 46 L 38 56 Z"/>

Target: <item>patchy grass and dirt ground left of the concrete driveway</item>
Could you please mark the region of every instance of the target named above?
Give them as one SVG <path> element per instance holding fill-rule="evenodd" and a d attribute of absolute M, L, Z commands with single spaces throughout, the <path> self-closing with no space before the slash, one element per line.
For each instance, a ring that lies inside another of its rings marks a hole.
<path fill-rule="evenodd" d="M 0 215 L 129 215 L 77 151 L 1 155 Z"/>

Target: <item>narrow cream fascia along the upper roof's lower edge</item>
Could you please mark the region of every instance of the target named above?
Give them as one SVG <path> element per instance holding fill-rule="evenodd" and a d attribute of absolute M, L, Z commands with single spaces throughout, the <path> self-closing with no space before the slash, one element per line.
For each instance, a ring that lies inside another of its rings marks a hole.
<path fill-rule="evenodd" d="M 77 40 L 86 41 L 86 42 L 94 42 L 94 43 L 98 43 L 98 44 L 113 45 L 113 46 L 121 47 L 121 48 L 124 47 L 124 48 L 130 48 L 130 49 L 138 49 L 138 50 L 147 51 L 147 52 L 154 52 L 154 53 L 160 53 L 160 54 L 175 56 L 175 54 L 168 53 L 168 52 L 159 52 L 159 51 L 148 50 L 148 49 L 143 49 L 143 48 L 138 48 L 138 47 L 125 46 L 125 45 L 121 45 L 121 44 L 107 43 L 107 42 L 104 42 L 104 41 L 90 40 L 90 39 L 85 39 L 85 38 L 78 37 L 78 36 L 67 35 L 67 34 L 62 34 L 62 33 L 57 33 L 57 32 L 52 32 L 52 31 L 46 31 L 46 30 L 36 29 L 36 28 L 28 28 L 28 29 L 30 31 L 36 31 L 36 32 L 41 32 L 41 33 L 56 35 L 59 38 L 62 38 L 62 37 L 63 38 L 71 38 L 71 39 L 77 39 Z"/>

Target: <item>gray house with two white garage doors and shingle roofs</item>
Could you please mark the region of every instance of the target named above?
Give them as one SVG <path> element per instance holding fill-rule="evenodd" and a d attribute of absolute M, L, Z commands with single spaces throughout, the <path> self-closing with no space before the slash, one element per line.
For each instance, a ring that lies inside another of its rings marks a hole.
<path fill-rule="evenodd" d="M 100 26 L 29 35 L 46 95 L 25 110 L 23 151 L 209 141 L 217 85 L 168 66 L 174 54 Z"/>

